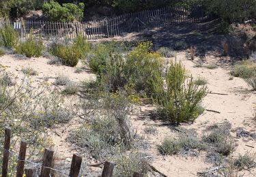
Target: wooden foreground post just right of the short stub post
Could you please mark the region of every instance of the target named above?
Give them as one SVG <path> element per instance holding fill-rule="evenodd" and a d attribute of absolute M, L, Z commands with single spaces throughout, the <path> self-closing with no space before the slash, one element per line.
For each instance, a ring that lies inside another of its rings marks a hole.
<path fill-rule="evenodd" d="M 53 162 L 53 150 L 50 148 L 45 148 L 44 149 L 44 158 L 43 158 L 43 163 L 42 163 L 42 168 L 41 168 L 41 173 L 40 177 L 48 177 L 50 176 L 51 172 L 51 165 Z"/>

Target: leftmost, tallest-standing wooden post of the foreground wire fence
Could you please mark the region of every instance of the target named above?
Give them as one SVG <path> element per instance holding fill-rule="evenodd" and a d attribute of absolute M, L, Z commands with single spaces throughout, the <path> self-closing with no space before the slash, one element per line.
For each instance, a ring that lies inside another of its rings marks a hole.
<path fill-rule="evenodd" d="M 11 141 L 11 129 L 6 127 L 5 128 L 5 142 L 4 142 L 4 146 L 3 146 L 2 177 L 6 177 L 8 174 L 10 141 Z"/>

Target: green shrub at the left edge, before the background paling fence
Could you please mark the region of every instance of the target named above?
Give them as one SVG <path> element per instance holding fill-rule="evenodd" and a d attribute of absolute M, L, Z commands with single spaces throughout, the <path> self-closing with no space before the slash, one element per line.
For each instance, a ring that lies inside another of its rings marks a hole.
<path fill-rule="evenodd" d="M 6 48 L 13 48 L 18 42 L 18 34 L 11 25 L 5 24 L 0 29 L 0 42 Z"/>

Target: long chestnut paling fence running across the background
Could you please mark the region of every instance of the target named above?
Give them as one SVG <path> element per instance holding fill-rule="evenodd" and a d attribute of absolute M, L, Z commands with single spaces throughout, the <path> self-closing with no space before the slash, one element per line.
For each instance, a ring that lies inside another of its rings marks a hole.
<path fill-rule="evenodd" d="M 208 20 L 211 20 L 211 16 L 205 13 L 204 7 L 194 5 L 189 8 L 165 7 L 157 10 L 145 10 L 85 22 L 23 21 L 10 23 L 22 38 L 26 38 L 32 33 L 43 39 L 50 39 L 50 37 L 74 39 L 78 35 L 82 35 L 86 39 L 99 39 L 139 32 L 143 29 L 180 23 L 206 22 Z M 0 28 L 5 23 L 0 22 Z"/>

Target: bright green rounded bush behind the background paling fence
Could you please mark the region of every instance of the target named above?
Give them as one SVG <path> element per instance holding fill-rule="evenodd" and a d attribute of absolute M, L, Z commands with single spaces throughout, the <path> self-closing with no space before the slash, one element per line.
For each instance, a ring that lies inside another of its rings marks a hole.
<path fill-rule="evenodd" d="M 84 3 L 75 5 L 73 3 L 63 3 L 60 5 L 55 1 L 44 3 L 42 11 L 48 20 L 72 22 L 74 20 L 81 20 L 83 18 Z"/>

